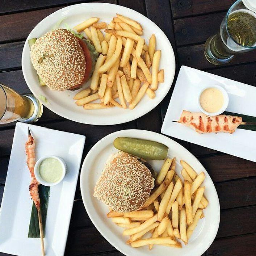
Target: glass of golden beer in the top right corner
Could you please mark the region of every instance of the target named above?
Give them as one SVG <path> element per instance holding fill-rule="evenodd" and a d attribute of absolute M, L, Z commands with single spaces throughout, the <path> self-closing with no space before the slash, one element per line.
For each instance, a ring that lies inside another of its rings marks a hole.
<path fill-rule="evenodd" d="M 236 1 L 221 22 L 217 35 L 207 39 L 204 54 L 212 64 L 228 63 L 235 54 L 256 49 L 256 9 L 251 9 L 249 1 L 256 2 Z"/>

